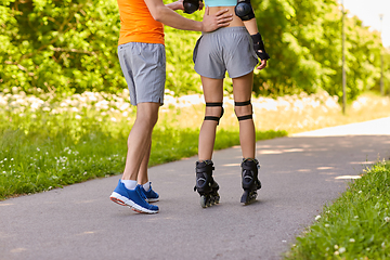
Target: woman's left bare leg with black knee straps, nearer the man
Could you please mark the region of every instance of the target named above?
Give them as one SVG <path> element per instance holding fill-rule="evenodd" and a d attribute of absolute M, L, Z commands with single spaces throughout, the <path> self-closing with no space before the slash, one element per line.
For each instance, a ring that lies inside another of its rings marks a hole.
<path fill-rule="evenodd" d="M 223 101 L 223 79 L 202 78 L 204 96 L 206 103 L 222 103 Z M 205 117 L 220 118 L 221 106 L 206 106 Z M 210 160 L 212 157 L 216 141 L 216 130 L 218 120 L 204 120 L 199 132 L 198 160 Z"/>

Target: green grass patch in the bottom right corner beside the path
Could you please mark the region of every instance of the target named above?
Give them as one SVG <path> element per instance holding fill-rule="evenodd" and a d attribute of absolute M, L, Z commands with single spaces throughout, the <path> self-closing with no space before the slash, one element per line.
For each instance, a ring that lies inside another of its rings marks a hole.
<path fill-rule="evenodd" d="M 297 238 L 285 259 L 390 259 L 390 161 L 376 164 Z"/>

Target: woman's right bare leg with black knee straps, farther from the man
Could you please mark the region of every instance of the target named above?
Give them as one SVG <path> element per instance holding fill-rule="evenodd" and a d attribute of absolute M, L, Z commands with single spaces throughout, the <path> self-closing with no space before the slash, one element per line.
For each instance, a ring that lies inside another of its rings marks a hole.
<path fill-rule="evenodd" d="M 250 101 L 253 73 L 247 74 L 233 80 L 234 110 L 239 120 L 239 143 L 243 152 L 243 158 L 253 158 L 256 156 L 256 130 Z M 243 103 L 247 102 L 247 103 Z"/>

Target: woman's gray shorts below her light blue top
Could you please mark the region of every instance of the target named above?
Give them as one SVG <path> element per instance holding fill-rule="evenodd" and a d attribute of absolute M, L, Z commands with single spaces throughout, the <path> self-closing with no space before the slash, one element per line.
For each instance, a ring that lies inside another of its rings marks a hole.
<path fill-rule="evenodd" d="M 259 63 L 253 42 L 245 27 L 220 28 L 204 32 L 197 40 L 193 60 L 195 72 L 208 78 L 237 78 L 249 74 Z"/>

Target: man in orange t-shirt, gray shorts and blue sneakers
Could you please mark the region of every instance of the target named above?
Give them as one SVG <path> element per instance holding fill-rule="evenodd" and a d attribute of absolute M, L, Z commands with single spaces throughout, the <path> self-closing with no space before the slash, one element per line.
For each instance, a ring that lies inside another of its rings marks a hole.
<path fill-rule="evenodd" d="M 222 10 L 209 15 L 206 8 L 203 22 L 184 18 L 174 12 L 184 9 L 183 0 L 167 5 L 162 0 L 118 0 L 118 57 L 129 87 L 130 102 L 136 106 L 136 118 L 128 139 L 123 174 L 110 199 L 138 212 L 157 213 L 158 207 L 148 204 L 157 202 L 159 196 L 148 181 L 147 164 L 152 131 L 157 122 L 158 108 L 164 104 L 164 25 L 183 30 L 213 31 L 227 26 L 232 14 Z"/>

